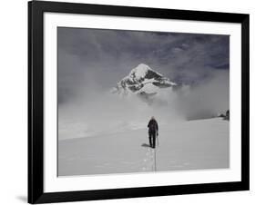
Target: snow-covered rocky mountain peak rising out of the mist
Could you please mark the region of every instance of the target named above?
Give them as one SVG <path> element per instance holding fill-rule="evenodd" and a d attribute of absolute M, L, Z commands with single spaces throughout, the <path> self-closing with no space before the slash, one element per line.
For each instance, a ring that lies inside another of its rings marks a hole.
<path fill-rule="evenodd" d="M 168 78 L 154 71 L 147 64 L 139 63 L 130 71 L 128 76 L 118 82 L 111 92 L 122 96 L 138 94 L 138 96 L 148 100 L 150 96 L 172 90 L 175 86 L 177 86 L 176 83 L 170 82 Z"/>

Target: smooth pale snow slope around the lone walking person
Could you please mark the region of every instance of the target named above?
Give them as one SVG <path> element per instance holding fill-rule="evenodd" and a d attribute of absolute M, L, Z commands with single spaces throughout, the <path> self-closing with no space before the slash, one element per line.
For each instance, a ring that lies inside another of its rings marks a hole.
<path fill-rule="evenodd" d="M 157 171 L 229 168 L 229 122 L 221 118 L 159 125 Z M 147 129 L 59 141 L 58 175 L 154 171 Z"/>

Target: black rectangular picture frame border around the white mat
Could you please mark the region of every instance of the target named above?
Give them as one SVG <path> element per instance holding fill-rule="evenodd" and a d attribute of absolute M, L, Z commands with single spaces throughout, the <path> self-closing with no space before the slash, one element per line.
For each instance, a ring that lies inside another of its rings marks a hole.
<path fill-rule="evenodd" d="M 241 181 L 44 192 L 44 13 L 133 16 L 241 24 Z M 105 200 L 249 190 L 249 15 L 114 5 L 28 3 L 28 202 Z"/>

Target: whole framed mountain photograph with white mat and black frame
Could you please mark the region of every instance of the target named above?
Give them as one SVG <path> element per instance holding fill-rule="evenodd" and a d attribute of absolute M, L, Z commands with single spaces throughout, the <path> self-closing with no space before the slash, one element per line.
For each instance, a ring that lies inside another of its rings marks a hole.
<path fill-rule="evenodd" d="M 28 202 L 249 190 L 249 15 L 28 3 Z"/>

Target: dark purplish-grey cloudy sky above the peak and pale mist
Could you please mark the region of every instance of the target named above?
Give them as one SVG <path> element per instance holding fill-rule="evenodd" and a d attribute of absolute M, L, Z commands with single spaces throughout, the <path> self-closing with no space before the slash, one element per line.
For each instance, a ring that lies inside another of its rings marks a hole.
<path fill-rule="evenodd" d="M 229 35 L 58 27 L 57 48 L 59 102 L 86 88 L 107 90 L 138 63 L 189 84 L 230 69 Z"/>

